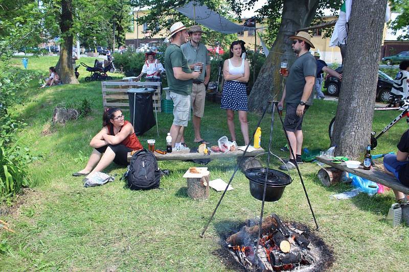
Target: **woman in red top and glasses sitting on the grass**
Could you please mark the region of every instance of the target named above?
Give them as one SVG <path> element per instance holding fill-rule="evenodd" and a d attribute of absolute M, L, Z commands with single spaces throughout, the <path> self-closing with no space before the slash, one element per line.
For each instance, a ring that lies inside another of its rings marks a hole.
<path fill-rule="evenodd" d="M 75 172 L 74 177 L 91 177 L 102 171 L 112 161 L 127 165 L 128 152 L 143 149 L 130 122 L 124 120 L 124 114 L 118 108 L 106 109 L 102 117 L 102 130 L 89 143 L 94 147 L 85 168 Z"/>

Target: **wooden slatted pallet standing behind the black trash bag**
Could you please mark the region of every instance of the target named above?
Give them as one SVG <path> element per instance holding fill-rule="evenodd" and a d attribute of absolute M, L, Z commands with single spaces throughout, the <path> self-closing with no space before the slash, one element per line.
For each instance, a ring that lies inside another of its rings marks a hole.
<path fill-rule="evenodd" d="M 161 82 L 136 82 L 128 80 L 103 81 L 102 102 L 104 109 L 117 107 L 121 110 L 129 110 L 128 89 L 132 88 L 153 88 L 156 89 L 153 95 L 153 110 L 161 112 Z"/>

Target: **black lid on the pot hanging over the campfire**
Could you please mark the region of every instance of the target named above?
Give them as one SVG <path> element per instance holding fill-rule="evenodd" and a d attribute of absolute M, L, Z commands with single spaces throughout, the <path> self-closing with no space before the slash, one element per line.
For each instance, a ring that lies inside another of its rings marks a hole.
<path fill-rule="evenodd" d="M 244 175 L 250 181 L 264 185 L 266 168 L 256 167 L 249 168 L 244 172 Z M 286 186 L 291 183 L 291 178 L 282 171 L 268 168 L 267 186 Z"/>

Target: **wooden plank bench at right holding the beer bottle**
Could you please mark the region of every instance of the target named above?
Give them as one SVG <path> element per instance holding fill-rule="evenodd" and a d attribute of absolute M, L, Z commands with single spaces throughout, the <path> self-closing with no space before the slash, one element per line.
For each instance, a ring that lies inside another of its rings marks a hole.
<path fill-rule="evenodd" d="M 363 167 L 360 165 L 359 168 L 348 168 L 344 163 L 339 164 L 339 163 L 333 163 L 331 160 L 327 158 L 323 158 L 320 156 L 316 157 L 317 161 L 320 161 L 322 163 L 325 163 L 327 165 L 330 165 L 332 167 L 335 167 L 337 169 L 352 173 L 356 176 L 366 178 L 367 180 L 371 180 L 373 182 L 382 184 L 384 186 L 387 186 L 391 189 L 395 189 L 397 191 L 400 191 L 404 194 L 409 194 L 409 187 L 404 186 L 402 183 L 400 183 L 395 177 L 386 174 L 385 172 L 381 172 L 378 170 L 364 170 Z"/>

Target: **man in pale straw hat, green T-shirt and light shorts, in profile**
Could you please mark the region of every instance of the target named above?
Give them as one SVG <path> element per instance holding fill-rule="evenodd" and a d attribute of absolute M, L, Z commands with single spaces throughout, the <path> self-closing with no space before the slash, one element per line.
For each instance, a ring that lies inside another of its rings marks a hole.
<path fill-rule="evenodd" d="M 190 94 L 192 83 L 200 77 L 200 71 L 189 68 L 188 61 L 180 49 L 180 45 L 188 38 L 186 27 L 182 22 L 176 22 L 170 27 L 171 44 L 165 51 L 165 69 L 170 97 L 173 100 L 173 123 L 170 128 L 172 147 L 174 150 L 183 150 L 186 147 L 180 144 L 184 128 L 188 126 L 190 114 Z"/>

